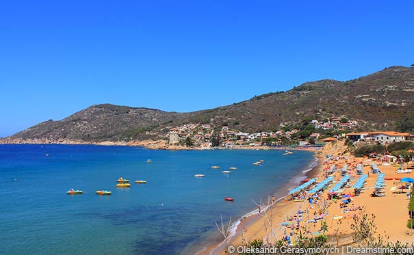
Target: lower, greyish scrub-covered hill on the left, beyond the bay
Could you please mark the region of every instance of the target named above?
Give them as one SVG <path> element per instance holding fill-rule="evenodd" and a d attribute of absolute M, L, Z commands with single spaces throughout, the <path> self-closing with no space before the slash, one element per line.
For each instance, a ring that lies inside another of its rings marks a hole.
<path fill-rule="evenodd" d="M 148 137 L 147 132 L 162 124 L 173 124 L 192 113 L 174 113 L 157 109 L 118 105 L 92 105 L 60 121 L 49 120 L 32 126 L 10 138 L 51 141 L 75 139 L 85 141 L 118 141 L 128 137 Z"/>

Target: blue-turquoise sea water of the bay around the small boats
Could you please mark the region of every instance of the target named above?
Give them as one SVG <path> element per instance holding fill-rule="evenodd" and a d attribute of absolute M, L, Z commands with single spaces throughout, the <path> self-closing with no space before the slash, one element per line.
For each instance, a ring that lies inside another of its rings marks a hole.
<path fill-rule="evenodd" d="M 267 200 L 289 183 L 286 175 L 297 176 L 313 159 L 309 152 L 283 152 L 0 145 L 1 253 L 197 250 L 217 234 L 214 222 L 220 221 L 220 214 L 237 219 L 252 211 L 251 199 Z M 253 166 L 259 159 L 266 162 Z M 238 170 L 221 173 L 231 166 Z M 194 178 L 196 173 L 206 176 Z M 116 188 L 120 176 L 131 180 L 130 188 Z M 148 183 L 133 183 L 140 179 Z M 71 187 L 84 193 L 66 195 Z M 112 196 L 97 196 L 98 189 L 109 189 Z M 225 202 L 225 196 L 235 201 Z"/>

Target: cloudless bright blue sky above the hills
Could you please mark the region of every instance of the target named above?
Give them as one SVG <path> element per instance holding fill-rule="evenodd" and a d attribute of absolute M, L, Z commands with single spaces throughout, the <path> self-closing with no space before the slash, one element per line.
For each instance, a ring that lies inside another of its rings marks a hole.
<path fill-rule="evenodd" d="M 99 103 L 194 111 L 409 66 L 413 13 L 414 1 L 1 1 L 0 137 Z"/>

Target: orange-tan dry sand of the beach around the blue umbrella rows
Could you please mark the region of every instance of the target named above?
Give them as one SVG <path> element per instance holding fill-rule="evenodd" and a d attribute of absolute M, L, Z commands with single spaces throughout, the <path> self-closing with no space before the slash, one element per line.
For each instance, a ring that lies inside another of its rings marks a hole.
<path fill-rule="evenodd" d="M 325 155 L 333 155 L 337 159 L 325 162 Z M 340 156 L 340 157 L 338 157 Z M 414 174 L 397 174 L 396 165 L 385 164 L 374 161 L 367 158 L 356 158 L 350 155 L 346 151 L 344 142 L 338 141 L 329 143 L 320 152 L 315 154 L 315 157 L 319 160 L 319 165 L 315 167 L 311 172 L 307 173 L 309 178 L 318 178 L 318 182 L 325 178 L 324 169 L 331 165 L 336 165 L 337 169 L 341 169 L 343 165 L 348 164 L 349 172 L 351 176 L 350 187 L 344 190 L 345 193 L 350 193 L 353 196 L 352 185 L 359 178 L 356 174 L 357 163 L 362 163 L 363 172 L 367 174 L 370 170 L 370 164 L 376 163 L 380 171 L 385 174 L 386 187 L 384 189 L 386 196 L 372 197 L 371 193 L 374 191 L 374 183 L 378 174 L 370 173 L 365 183 L 365 191 L 359 196 L 352 197 L 352 202 L 346 207 L 340 208 L 341 198 L 333 202 L 333 200 L 326 200 L 326 223 L 328 230 L 325 234 L 328 236 L 328 241 L 333 245 L 352 245 L 352 237 L 350 236 L 351 224 L 354 222 L 352 217 L 354 215 L 361 215 L 364 211 L 368 215 L 375 215 L 374 223 L 377 226 L 376 232 L 389 238 L 389 241 L 401 241 L 402 243 L 411 243 L 414 241 L 414 235 L 411 235 L 411 231 L 406 227 L 406 222 L 409 220 L 409 214 L 407 206 L 409 199 L 404 193 L 400 192 L 401 186 L 398 178 L 411 177 L 414 178 Z M 340 172 L 335 172 L 335 181 L 338 181 L 342 176 Z M 396 179 L 397 178 L 397 179 Z M 330 187 L 332 187 L 331 185 Z M 390 190 L 391 189 L 391 190 Z M 320 195 L 318 203 L 322 203 L 322 198 L 328 198 L 328 189 Z M 263 240 L 263 243 L 276 243 L 277 240 L 283 239 L 285 235 L 289 235 L 291 230 L 286 226 L 282 226 L 282 222 L 290 222 L 298 211 L 307 211 L 302 215 L 303 222 L 305 219 L 312 219 L 314 215 L 320 213 L 320 205 L 310 204 L 307 200 L 304 202 L 293 202 L 292 200 L 281 200 L 270 205 L 270 208 L 265 212 L 261 212 L 260 215 L 253 215 L 249 219 L 243 221 L 237 228 L 236 234 L 229 239 L 229 244 L 232 246 L 246 245 L 248 242 L 255 239 Z M 296 217 L 294 217 L 296 219 Z M 294 222 L 294 221 L 293 221 Z M 302 224 L 302 222 L 301 222 Z M 320 234 L 321 223 L 304 223 L 306 224 L 307 233 L 309 235 Z M 303 226 L 303 224 L 302 224 Z M 227 243 L 222 243 L 220 247 L 212 245 L 203 254 L 227 254 Z"/>

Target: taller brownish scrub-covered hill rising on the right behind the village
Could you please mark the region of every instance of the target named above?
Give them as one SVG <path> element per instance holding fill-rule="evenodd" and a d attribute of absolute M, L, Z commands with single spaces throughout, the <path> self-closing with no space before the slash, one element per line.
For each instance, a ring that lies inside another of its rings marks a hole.
<path fill-rule="evenodd" d="M 209 116 L 216 122 L 240 122 L 240 129 L 271 130 L 281 122 L 304 116 L 346 115 L 375 124 L 396 122 L 414 109 L 414 68 L 391 67 L 346 82 L 322 80 L 304 83 L 285 93 L 265 94 L 220 107 Z M 221 113 L 221 114 L 220 114 Z M 205 114 L 205 113 L 202 113 Z M 221 118 L 221 119 L 220 119 Z"/>

